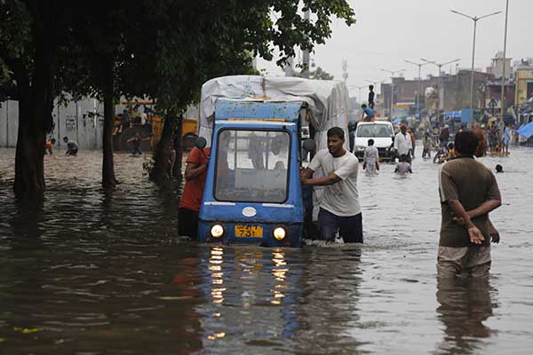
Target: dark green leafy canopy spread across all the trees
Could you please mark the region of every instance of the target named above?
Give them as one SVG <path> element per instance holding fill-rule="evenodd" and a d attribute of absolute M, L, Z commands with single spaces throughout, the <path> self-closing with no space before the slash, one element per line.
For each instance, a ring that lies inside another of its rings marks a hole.
<path fill-rule="evenodd" d="M 20 83 L 11 75 L 16 61 L 31 73 L 36 40 L 31 24 L 37 12 L 28 9 L 34 3 L 0 2 L 0 87 Z M 355 21 L 346 0 L 44 3 L 53 4 L 54 21 L 46 36 L 52 37 L 57 97 L 101 99 L 107 59 L 114 66 L 115 99 L 155 99 L 158 110 L 171 115 L 197 100 L 202 83 L 212 77 L 251 74 L 251 60 L 273 59 L 274 49 L 281 52 L 277 64 L 282 66 L 296 48 L 313 51 L 315 44 L 324 43 L 333 16 L 347 25 Z M 312 20 L 304 18 L 306 10 Z"/>

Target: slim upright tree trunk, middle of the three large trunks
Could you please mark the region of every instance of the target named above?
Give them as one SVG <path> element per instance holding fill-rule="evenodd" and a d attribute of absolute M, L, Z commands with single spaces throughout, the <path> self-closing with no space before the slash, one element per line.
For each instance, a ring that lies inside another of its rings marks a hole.
<path fill-rule="evenodd" d="M 104 134 L 102 141 L 102 186 L 113 188 L 116 185 L 115 165 L 113 162 L 113 129 L 115 120 L 114 97 L 114 62 L 113 59 L 103 59 L 104 75 Z"/>

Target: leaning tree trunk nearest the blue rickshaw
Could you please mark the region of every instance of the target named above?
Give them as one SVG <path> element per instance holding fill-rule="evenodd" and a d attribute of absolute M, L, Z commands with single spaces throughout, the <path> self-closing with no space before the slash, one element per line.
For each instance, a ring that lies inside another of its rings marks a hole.
<path fill-rule="evenodd" d="M 150 180 L 154 181 L 157 185 L 168 183 L 171 179 L 170 171 L 168 170 L 168 161 L 171 155 L 172 137 L 176 130 L 177 121 L 173 114 L 166 114 L 164 116 L 163 132 L 155 150 L 154 169 L 150 171 Z"/>

